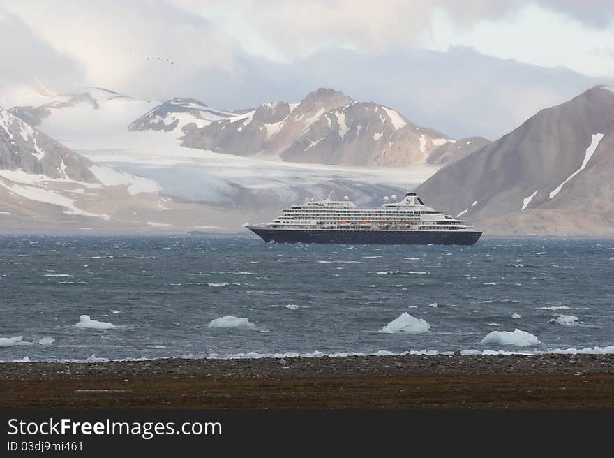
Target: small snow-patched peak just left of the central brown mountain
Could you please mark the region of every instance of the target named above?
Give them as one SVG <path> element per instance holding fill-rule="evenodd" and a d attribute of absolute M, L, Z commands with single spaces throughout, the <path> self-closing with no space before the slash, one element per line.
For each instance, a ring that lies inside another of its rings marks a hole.
<path fill-rule="evenodd" d="M 133 121 L 130 131 L 165 131 L 183 134 L 182 129 L 194 123 L 204 127 L 212 121 L 237 116 L 237 112 L 227 112 L 210 108 L 195 98 L 172 98 L 156 106 L 142 117 Z"/>

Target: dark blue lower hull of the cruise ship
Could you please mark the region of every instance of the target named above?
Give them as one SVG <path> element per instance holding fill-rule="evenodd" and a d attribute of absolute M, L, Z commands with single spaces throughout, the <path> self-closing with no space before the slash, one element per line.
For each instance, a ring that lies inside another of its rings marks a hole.
<path fill-rule="evenodd" d="M 475 230 L 274 229 L 246 226 L 267 243 L 472 245 Z"/>

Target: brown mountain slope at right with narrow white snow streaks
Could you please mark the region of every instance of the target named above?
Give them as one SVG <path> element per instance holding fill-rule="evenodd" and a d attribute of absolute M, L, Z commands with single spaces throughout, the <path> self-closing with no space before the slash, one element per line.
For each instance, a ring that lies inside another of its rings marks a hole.
<path fill-rule="evenodd" d="M 614 88 L 541 110 L 417 188 L 499 234 L 614 234 Z"/>

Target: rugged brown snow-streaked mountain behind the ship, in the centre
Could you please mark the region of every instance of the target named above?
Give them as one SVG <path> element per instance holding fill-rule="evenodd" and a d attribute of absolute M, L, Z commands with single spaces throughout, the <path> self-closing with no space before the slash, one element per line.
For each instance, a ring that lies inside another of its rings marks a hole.
<path fill-rule="evenodd" d="M 188 126 L 182 145 L 296 163 L 394 167 L 422 163 L 453 142 L 391 108 L 317 89 L 299 103 L 262 103 L 207 126 Z"/>

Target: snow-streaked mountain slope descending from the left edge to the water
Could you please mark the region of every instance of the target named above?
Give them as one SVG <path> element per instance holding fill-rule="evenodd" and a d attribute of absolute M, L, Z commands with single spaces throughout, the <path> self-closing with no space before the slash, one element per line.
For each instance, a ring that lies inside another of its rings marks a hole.
<path fill-rule="evenodd" d="M 151 179 L 93 163 L 0 108 L 1 232 L 184 232 L 209 221 L 207 207 L 174 202 Z"/>

